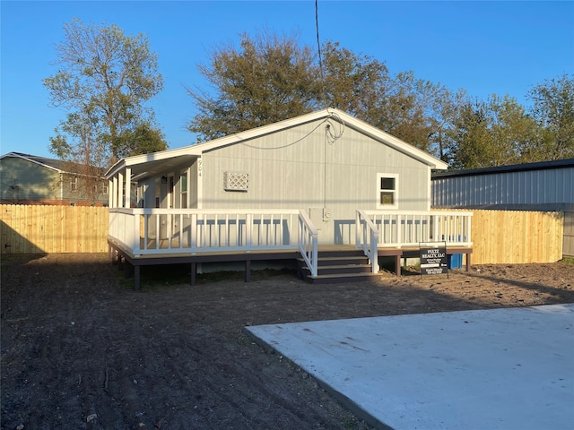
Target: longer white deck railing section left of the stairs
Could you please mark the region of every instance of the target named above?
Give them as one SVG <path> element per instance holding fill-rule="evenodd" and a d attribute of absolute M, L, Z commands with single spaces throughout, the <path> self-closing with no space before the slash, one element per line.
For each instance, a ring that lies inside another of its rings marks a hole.
<path fill-rule="evenodd" d="M 299 250 L 317 276 L 317 230 L 297 210 L 111 208 L 109 236 L 134 256 Z"/>

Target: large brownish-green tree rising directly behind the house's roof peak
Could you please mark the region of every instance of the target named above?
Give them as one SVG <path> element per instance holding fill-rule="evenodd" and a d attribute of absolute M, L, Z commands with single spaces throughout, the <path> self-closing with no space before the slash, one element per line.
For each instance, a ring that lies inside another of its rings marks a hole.
<path fill-rule="evenodd" d="M 428 115 L 446 111 L 437 110 L 446 90 L 412 72 L 392 77 L 385 64 L 335 42 L 322 47 L 322 71 L 312 52 L 268 31 L 241 35 L 239 49 L 218 48 L 199 66 L 214 91 L 187 88 L 199 110 L 188 129 L 204 141 L 336 107 L 422 150 L 438 148 L 431 136 L 445 119 Z"/>

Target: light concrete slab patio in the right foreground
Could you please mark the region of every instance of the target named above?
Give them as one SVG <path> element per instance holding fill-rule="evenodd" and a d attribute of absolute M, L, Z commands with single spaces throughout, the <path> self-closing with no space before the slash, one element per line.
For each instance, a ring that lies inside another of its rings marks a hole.
<path fill-rule="evenodd" d="M 246 330 L 379 428 L 574 428 L 574 304 Z"/>

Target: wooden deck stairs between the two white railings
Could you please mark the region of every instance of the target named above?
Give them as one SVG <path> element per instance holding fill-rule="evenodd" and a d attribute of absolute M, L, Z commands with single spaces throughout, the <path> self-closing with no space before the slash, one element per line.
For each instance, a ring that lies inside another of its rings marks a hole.
<path fill-rule="evenodd" d="M 317 277 L 310 275 L 302 258 L 297 263 L 300 278 L 313 284 L 361 282 L 375 280 L 380 276 L 372 273 L 369 259 L 352 245 L 319 245 Z"/>

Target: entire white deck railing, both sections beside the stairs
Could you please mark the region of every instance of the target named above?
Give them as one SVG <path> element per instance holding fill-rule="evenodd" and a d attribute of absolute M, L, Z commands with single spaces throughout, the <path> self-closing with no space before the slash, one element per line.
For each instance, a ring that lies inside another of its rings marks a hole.
<path fill-rule="evenodd" d="M 472 246 L 469 211 L 357 211 L 356 246 L 378 271 L 378 248 Z M 109 237 L 134 256 L 298 250 L 317 276 L 317 229 L 298 210 L 109 209 Z"/>

